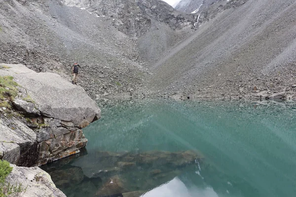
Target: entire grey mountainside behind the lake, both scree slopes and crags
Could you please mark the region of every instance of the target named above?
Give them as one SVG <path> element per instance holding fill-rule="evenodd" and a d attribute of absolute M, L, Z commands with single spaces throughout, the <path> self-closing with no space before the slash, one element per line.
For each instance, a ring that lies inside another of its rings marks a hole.
<path fill-rule="evenodd" d="M 100 100 L 294 94 L 295 4 L 206 0 L 186 14 L 161 0 L 0 0 L 0 62 L 71 80 L 77 61 Z"/>

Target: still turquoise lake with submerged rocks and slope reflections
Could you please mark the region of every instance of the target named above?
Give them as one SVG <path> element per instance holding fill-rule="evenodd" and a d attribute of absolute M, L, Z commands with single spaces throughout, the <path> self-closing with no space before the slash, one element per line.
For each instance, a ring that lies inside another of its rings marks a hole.
<path fill-rule="evenodd" d="M 42 166 L 67 197 L 296 196 L 289 103 L 122 103 L 83 132 L 81 153 Z"/>

